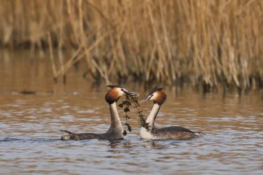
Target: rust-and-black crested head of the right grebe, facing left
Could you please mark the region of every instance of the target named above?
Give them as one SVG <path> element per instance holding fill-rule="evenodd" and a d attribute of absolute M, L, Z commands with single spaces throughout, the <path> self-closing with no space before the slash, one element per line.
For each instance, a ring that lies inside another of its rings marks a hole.
<path fill-rule="evenodd" d="M 162 91 L 163 88 L 158 88 L 157 86 L 152 89 L 152 91 L 149 92 L 147 97 L 140 101 L 140 103 L 147 102 L 149 100 L 154 100 L 154 103 L 157 103 L 159 105 L 163 104 L 166 100 L 166 94 Z"/>

